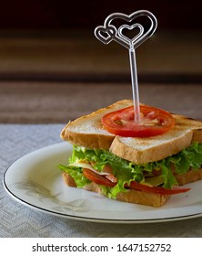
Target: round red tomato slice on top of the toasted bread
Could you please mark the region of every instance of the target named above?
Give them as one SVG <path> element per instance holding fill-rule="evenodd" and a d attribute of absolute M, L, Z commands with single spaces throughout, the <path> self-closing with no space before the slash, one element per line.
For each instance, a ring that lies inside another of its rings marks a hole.
<path fill-rule="evenodd" d="M 102 123 L 106 131 L 123 137 L 149 137 L 167 133 L 175 124 L 174 117 L 161 109 L 140 106 L 141 121 L 135 123 L 134 107 L 106 113 Z"/>

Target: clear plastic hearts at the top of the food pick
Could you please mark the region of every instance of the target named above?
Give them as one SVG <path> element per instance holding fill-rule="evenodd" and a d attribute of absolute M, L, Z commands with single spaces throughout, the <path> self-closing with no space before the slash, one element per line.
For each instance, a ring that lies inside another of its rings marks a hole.
<path fill-rule="evenodd" d="M 134 23 L 132 25 L 124 24 L 120 27 L 115 27 L 112 25 L 112 21 L 115 19 L 121 19 L 127 23 L 135 22 L 136 18 L 139 16 L 146 16 L 150 21 L 150 27 L 145 31 L 144 27 L 139 23 Z M 135 37 L 129 38 L 123 34 L 123 29 L 135 30 L 138 29 L 138 33 Z M 152 13 L 146 10 L 140 10 L 127 16 L 122 13 L 114 13 L 106 17 L 104 26 L 98 26 L 95 29 L 95 36 L 104 44 L 110 43 L 115 40 L 117 43 L 121 44 L 126 48 L 137 48 L 142 44 L 148 37 L 151 37 L 157 28 L 157 18 Z"/>

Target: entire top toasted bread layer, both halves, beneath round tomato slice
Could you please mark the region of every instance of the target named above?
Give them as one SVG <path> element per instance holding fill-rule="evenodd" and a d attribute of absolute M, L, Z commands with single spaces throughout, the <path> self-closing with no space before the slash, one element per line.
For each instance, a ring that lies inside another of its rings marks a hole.
<path fill-rule="evenodd" d="M 108 133 L 101 123 L 102 116 L 107 112 L 114 112 L 131 105 L 133 105 L 131 100 L 117 101 L 106 108 L 67 123 L 61 132 L 61 138 L 71 144 L 109 150 L 138 165 L 175 155 L 192 142 L 202 143 L 202 122 L 178 114 L 172 114 L 176 121 L 174 127 L 161 135 L 132 138 Z"/>

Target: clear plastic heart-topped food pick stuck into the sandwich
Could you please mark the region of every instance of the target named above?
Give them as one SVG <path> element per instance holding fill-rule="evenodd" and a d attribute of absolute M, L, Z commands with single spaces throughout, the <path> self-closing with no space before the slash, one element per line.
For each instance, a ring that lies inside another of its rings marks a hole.
<path fill-rule="evenodd" d="M 145 27 L 140 23 L 135 23 L 137 17 L 144 16 L 150 22 L 150 27 Z M 121 20 L 124 24 L 116 27 L 112 24 L 114 20 Z M 129 25 L 128 25 L 129 23 Z M 146 10 L 140 10 L 127 16 L 121 13 L 114 13 L 106 17 L 104 26 L 98 26 L 95 29 L 95 36 L 104 44 L 108 44 L 115 40 L 120 45 L 129 49 L 130 71 L 132 80 L 133 102 L 135 112 L 135 122 L 140 123 L 140 108 L 139 108 L 139 92 L 136 72 L 136 52 L 135 48 L 141 45 L 148 37 L 151 37 L 157 28 L 157 18 L 152 13 Z M 124 30 L 136 30 L 138 33 L 135 37 L 126 37 Z"/>

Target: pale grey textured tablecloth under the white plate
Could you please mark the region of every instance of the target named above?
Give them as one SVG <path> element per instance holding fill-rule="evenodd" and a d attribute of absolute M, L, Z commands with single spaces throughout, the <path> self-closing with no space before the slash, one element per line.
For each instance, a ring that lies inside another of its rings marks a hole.
<path fill-rule="evenodd" d="M 0 179 L 30 152 L 61 142 L 61 124 L 0 124 Z M 202 218 L 149 224 L 106 224 L 64 219 L 27 208 L 0 184 L 0 237 L 202 237 Z M 172 226 L 172 229 L 171 229 Z"/>

